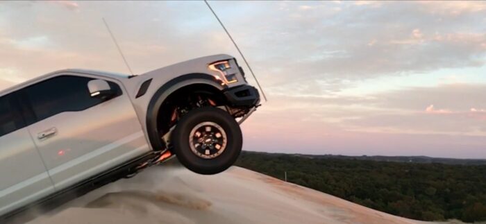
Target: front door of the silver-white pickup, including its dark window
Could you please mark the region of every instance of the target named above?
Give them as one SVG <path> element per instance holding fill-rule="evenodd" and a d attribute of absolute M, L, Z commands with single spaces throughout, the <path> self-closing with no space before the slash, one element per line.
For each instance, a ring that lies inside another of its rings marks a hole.
<path fill-rule="evenodd" d="M 150 150 L 124 87 L 107 78 L 116 94 L 92 97 L 87 83 L 97 78 L 58 75 L 24 90 L 34 119 L 29 132 L 56 190 Z"/>

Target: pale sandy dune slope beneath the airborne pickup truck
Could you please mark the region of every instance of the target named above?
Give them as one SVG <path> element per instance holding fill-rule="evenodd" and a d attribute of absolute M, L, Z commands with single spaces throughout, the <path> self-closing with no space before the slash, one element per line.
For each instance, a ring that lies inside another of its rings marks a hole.
<path fill-rule="evenodd" d="M 417 223 L 240 167 L 152 167 L 30 223 Z"/>

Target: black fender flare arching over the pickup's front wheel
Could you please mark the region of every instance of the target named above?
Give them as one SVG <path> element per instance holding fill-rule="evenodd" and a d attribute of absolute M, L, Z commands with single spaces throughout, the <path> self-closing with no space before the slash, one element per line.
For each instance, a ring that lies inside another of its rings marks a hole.
<path fill-rule="evenodd" d="M 157 121 L 158 112 L 167 96 L 175 92 L 177 89 L 193 84 L 211 85 L 221 91 L 227 89 L 228 87 L 226 87 L 226 85 L 221 85 L 221 82 L 221 80 L 217 80 L 214 76 L 209 74 L 194 73 L 178 76 L 162 85 L 162 87 L 153 94 L 149 102 L 149 107 L 146 110 L 146 132 L 149 136 L 149 141 L 153 150 L 163 150 L 166 148 L 165 143 L 162 141 L 162 136 L 157 130 Z"/>

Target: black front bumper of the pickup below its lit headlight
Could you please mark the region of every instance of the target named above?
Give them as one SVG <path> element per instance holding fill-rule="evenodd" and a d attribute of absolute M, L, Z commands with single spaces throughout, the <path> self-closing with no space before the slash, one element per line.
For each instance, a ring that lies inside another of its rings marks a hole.
<path fill-rule="evenodd" d="M 239 85 L 224 90 L 224 96 L 231 106 L 255 107 L 260 103 L 260 94 L 251 85 Z"/>

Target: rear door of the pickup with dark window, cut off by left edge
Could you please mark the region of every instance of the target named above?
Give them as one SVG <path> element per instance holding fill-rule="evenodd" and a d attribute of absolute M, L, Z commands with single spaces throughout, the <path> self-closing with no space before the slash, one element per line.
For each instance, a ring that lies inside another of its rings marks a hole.
<path fill-rule="evenodd" d="M 16 93 L 0 96 L 0 215 L 53 193 Z"/>

